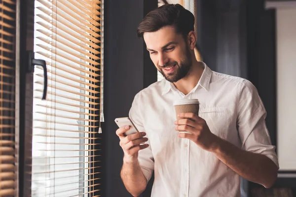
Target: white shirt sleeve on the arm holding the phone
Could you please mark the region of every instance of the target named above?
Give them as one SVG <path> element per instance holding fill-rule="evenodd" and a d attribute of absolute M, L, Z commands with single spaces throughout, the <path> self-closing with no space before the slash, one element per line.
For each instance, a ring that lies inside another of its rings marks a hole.
<path fill-rule="evenodd" d="M 140 132 L 145 131 L 145 127 L 143 124 L 143 113 L 145 110 L 143 107 L 144 105 L 141 105 L 141 93 L 138 93 L 135 96 L 135 99 L 132 103 L 132 107 L 129 111 L 129 118 L 133 121 L 133 123 Z M 146 137 L 148 137 L 147 132 Z M 149 137 L 146 143 L 148 143 L 149 146 L 148 148 L 139 151 L 138 161 L 142 169 L 142 172 L 145 175 L 148 182 L 154 170 L 154 159 L 152 155 Z"/>

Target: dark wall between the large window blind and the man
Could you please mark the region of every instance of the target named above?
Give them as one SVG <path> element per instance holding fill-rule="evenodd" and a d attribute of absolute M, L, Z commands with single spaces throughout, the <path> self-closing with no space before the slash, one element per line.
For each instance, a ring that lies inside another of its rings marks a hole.
<path fill-rule="evenodd" d="M 127 117 L 134 96 L 156 81 L 149 74 L 150 60 L 143 40 L 137 37 L 137 26 L 149 9 L 157 7 L 157 0 L 106 0 L 104 29 L 104 113 L 102 148 L 102 196 L 131 197 L 121 178 L 123 151 L 115 134 L 114 119 Z M 146 70 L 146 71 L 145 71 Z M 144 76 L 148 73 L 147 76 Z"/>

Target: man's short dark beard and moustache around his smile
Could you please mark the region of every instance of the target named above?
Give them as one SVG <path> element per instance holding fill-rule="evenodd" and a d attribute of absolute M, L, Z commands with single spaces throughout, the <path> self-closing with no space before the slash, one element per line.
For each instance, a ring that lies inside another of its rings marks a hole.
<path fill-rule="evenodd" d="M 174 66 L 174 65 L 177 66 L 174 72 L 168 73 L 168 74 L 164 73 L 163 71 L 164 68 Z M 189 74 L 191 67 L 192 67 L 192 60 L 191 60 L 191 54 L 188 47 L 186 47 L 185 60 L 181 61 L 180 64 L 176 61 L 173 61 L 165 64 L 165 66 L 158 66 L 159 72 L 162 74 L 162 76 L 171 83 L 176 83 L 180 79 L 186 77 Z"/>

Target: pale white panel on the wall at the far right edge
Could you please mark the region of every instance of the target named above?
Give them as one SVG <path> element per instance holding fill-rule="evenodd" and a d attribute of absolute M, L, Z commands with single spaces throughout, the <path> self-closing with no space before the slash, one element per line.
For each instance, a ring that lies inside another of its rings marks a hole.
<path fill-rule="evenodd" d="M 277 150 L 280 170 L 296 170 L 296 7 L 277 15 Z"/>

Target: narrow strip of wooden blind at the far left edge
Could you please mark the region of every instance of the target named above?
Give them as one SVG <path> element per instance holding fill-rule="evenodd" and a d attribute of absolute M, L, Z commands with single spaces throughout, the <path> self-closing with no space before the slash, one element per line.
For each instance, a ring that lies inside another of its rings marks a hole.
<path fill-rule="evenodd" d="M 0 1 L 0 196 L 16 194 L 15 0 Z"/>

